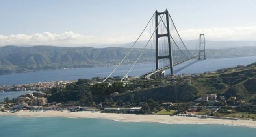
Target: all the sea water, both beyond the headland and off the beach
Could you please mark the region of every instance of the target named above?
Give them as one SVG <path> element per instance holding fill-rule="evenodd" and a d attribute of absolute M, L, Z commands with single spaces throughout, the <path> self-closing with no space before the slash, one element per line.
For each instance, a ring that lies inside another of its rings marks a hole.
<path fill-rule="evenodd" d="M 214 71 L 256 62 L 256 56 L 192 60 L 174 67 L 175 74 Z M 114 67 L 79 68 L 0 75 L 0 85 L 43 81 L 76 80 L 104 77 Z M 123 65 L 113 76 L 124 75 L 130 65 Z M 154 64 L 135 65 L 130 76 L 140 76 L 154 69 Z M 168 74 L 168 70 L 166 70 Z M 34 91 L 2 92 L 4 97 L 18 97 Z M 161 124 L 121 122 L 106 119 L 64 117 L 17 117 L 0 115 L 0 137 L 256 137 L 256 128 L 211 124 Z"/>

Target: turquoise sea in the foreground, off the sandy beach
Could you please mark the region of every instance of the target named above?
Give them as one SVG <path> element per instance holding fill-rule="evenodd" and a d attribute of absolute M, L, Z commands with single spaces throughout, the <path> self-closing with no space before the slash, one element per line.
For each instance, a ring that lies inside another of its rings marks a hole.
<path fill-rule="evenodd" d="M 0 116 L 1 137 L 255 137 L 255 128 Z"/>

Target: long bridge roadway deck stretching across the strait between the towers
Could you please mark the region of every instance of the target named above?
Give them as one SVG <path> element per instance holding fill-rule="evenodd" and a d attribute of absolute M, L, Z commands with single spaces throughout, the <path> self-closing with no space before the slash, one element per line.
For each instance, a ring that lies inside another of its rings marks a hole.
<path fill-rule="evenodd" d="M 185 60 L 176 62 L 176 63 L 173 64 L 173 66 L 176 66 L 176 65 L 178 65 L 178 64 L 180 64 L 180 63 L 186 62 L 186 61 L 188 61 L 188 60 L 190 60 L 190 59 L 193 59 L 193 58 L 196 58 L 196 57 L 198 57 L 198 56 L 193 56 L 193 57 L 191 57 L 191 58 L 188 58 L 188 59 L 185 59 Z M 141 79 L 148 79 L 148 80 L 157 79 L 158 74 L 160 74 L 161 72 L 163 72 L 163 70 L 166 70 L 166 69 L 168 69 L 168 68 L 170 68 L 170 65 L 165 66 L 165 67 L 163 67 L 163 68 L 160 68 L 160 69 L 158 69 L 158 70 L 154 70 L 154 71 L 145 73 L 145 74 L 141 75 L 140 78 L 141 78 Z"/>

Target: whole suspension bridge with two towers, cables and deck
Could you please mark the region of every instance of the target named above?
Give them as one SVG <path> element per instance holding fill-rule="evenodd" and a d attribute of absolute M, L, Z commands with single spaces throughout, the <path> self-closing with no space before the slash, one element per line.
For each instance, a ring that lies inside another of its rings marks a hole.
<path fill-rule="evenodd" d="M 188 48 L 182 41 L 182 38 L 178 33 L 168 10 L 166 9 L 164 12 L 158 12 L 156 10 L 148 21 L 146 27 L 140 33 L 137 40 L 128 50 L 127 54 L 114 68 L 114 70 L 104 79 L 104 81 L 106 81 L 117 70 L 117 68 L 125 62 L 125 59 L 127 59 L 128 55 L 136 47 L 138 41 L 143 39 L 143 37 L 147 38 L 147 43 L 142 48 L 137 59 L 132 63 L 131 67 L 126 71 L 121 81 L 128 76 L 129 72 L 132 70 L 132 68 L 134 68 L 135 64 L 139 61 L 143 55 L 143 52 L 149 45 L 151 47 L 154 70 L 143 74 L 141 76 L 142 79 L 153 80 L 163 78 L 165 75 L 165 70 L 167 69 L 170 70 L 171 75 L 174 75 L 173 67 L 175 65 L 195 58 L 198 58 L 198 60 L 206 59 L 206 43 L 204 34 L 199 34 L 198 42 L 194 48 Z M 184 67 L 188 67 L 188 65 Z"/>

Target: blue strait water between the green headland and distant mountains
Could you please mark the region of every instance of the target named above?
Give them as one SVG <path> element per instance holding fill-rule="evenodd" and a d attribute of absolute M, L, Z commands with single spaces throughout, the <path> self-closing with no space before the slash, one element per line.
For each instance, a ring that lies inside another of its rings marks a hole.
<path fill-rule="evenodd" d="M 189 74 L 189 73 L 203 73 L 207 71 L 214 71 L 220 68 L 234 67 L 237 65 L 248 65 L 256 62 L 256 56 L 252 57 L 236 57 L 224 59 L 207 59 L 207 60 L 192 60 L 184 62 L 174 67 L 175 74 Z M 183 68 L 183 67 L 186 68 Z M 113 76 L 121 76 L 131 65 L 120 66 Z M 0 85 L 13 85 L 24 83 L 36 83 L 44 81 L 61 81 L 61 80 L 77 80 L 79 78 L 91 79 L 92 77 L 100 76 L 106 77 L 115 67 L 98 67 L 98 68 L 79 68 L 79 69 L 65 69 L 52 71 L 38 71 L 18 74 L 0 75 Z M 129 76 L 140 76 L 155 68 L 154 64 L 135 65 Z M 182 68 L 182 69 L 180 69 Z M 169 70 L 166 70 L 166 74 Z"/>

